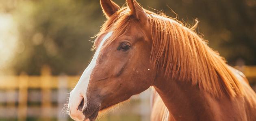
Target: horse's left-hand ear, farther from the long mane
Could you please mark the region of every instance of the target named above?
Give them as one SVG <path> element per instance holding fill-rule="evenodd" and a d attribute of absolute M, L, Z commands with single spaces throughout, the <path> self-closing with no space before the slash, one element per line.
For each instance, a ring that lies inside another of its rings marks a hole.
<path fill-rule="evenodd" d="M 103 13 L 107 18 L 113 15 L 120 8 L 115 2 L 111 0 L 100 0 L 100 5 Z"/>

